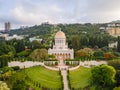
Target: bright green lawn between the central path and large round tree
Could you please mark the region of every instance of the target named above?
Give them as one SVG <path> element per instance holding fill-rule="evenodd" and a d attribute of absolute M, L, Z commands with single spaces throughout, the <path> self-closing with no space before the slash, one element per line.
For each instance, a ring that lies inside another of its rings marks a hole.
<path fill-rule="evenodd" d="M 80 67 L 69 72 L 71 88 L 84 88 L 90 84 L 91 69 Z"/>

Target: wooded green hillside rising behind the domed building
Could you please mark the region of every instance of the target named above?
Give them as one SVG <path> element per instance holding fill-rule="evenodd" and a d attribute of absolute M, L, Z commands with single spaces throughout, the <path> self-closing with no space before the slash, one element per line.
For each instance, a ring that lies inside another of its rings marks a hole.
<path fill-rule="evenodd" d="M 104 33 L 99 28 L 106 24 L 41 24 L 24 29 L 11 30 L 9 34 L 29 35 L 29 37 L 38 36 L 44 41 L 45 47 L 52 47 L 55 33 L 58 30 L 65 32 L 69 48 L 75 51 L 84 48 L 102 48 L 108 47 L 109 43 L 117 41 L 117 38 Z M 29 39 L 26 38 L 26 40 Z"/>

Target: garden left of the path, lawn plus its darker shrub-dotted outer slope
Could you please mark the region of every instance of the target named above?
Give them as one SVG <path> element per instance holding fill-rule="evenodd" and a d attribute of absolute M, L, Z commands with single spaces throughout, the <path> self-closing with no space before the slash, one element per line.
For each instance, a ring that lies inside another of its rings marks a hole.
<path fill-rule="evenodd" d="M 25 83 L 24 85 L 27 85 L 28 88 L 31 87 L 35 90 L 62 90 L 61 79 L 62 78 L 59 71 L 52 71 L 42 66 L 35 66 L 14 74 L 9 79 L 9 87 L 15 87 L 14 83 L 19 85 Z"/>

